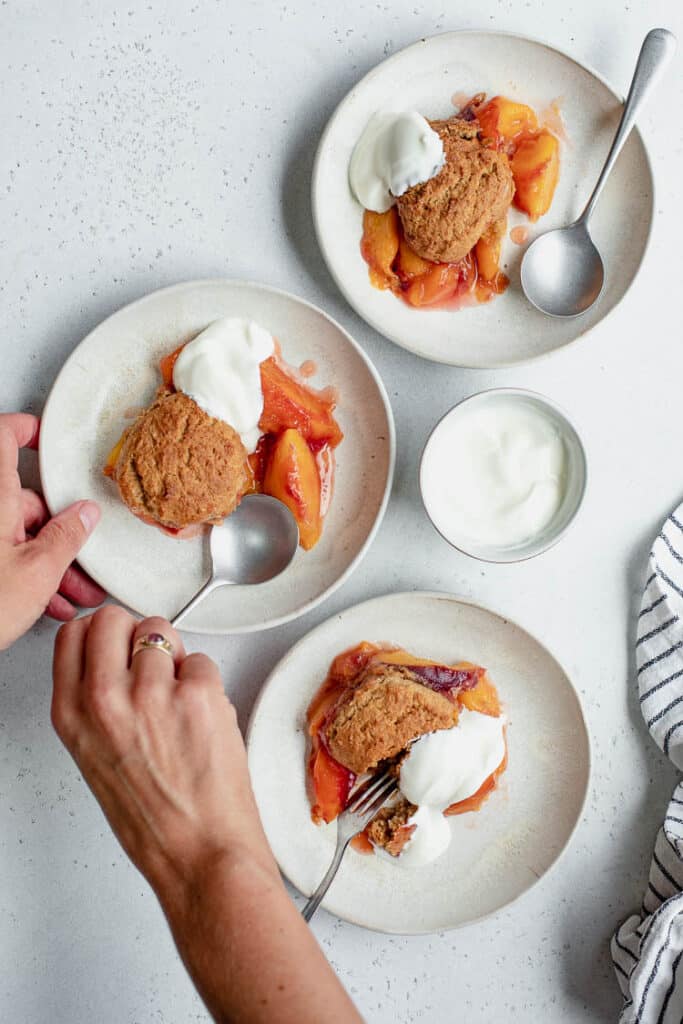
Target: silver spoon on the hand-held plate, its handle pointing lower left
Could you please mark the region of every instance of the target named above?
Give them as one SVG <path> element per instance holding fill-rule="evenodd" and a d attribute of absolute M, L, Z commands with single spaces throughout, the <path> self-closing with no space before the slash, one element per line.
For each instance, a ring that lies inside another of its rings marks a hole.
<path fill-rule="evenodd" d="M 286 505 L 268 495 L 248 495 L 209 541 L 211 577 L 181 608 L 171 625 L 177 626 L 207 594 L 231 584 L 257 584 L 272 580 L 290 564 L 299 546 L 299 527 Z"/>

